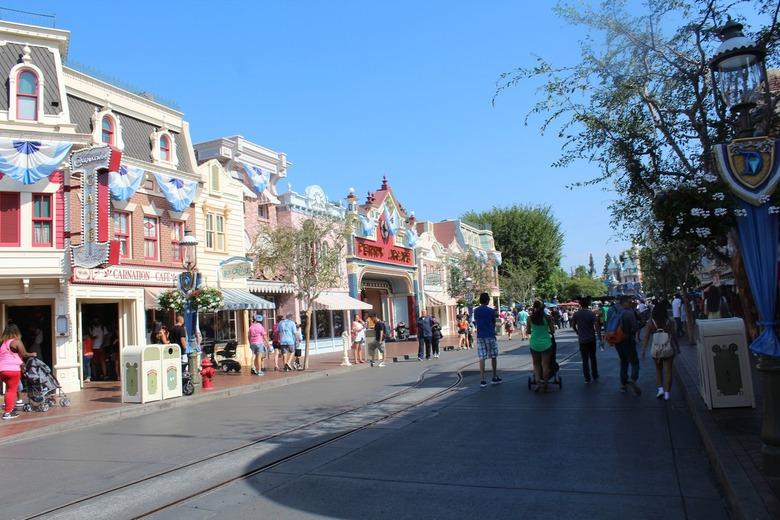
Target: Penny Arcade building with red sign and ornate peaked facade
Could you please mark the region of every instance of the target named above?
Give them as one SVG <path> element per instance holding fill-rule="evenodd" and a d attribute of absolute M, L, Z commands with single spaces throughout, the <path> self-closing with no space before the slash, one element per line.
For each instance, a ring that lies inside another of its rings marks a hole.
<path fill-rule="evenodd" d="M 414 221 L 410 223 L 386 178 L 362 205 L 350 191 L 347 211 L 354 222 L 346 259 L 350 296 L 371 305 L 390 330 L 403 322 L 416 334 L 420 290 Z"/>

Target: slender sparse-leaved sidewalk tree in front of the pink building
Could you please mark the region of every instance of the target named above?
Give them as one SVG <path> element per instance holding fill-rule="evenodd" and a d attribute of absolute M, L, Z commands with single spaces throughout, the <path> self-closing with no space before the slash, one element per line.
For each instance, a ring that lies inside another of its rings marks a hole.
<path fill-rule="evenodd" d="M 292 285 L 306 312 L 304 370 L 309 368 L 314 301 L 343 281 L 345 231 L 342 224 L 321 217 L 300 225 L 264 227 L 254 239 L 255 271 L 273 272 L 275 279 Z"/>

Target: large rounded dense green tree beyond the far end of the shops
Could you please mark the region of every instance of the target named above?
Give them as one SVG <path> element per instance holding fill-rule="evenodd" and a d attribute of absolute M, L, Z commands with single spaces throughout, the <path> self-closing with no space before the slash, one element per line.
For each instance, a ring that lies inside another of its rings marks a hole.
<path fill-rule="evenodd" d="M 501 274 L 515 266 L 532 269 L 537 281 L 544 280 L 560 264 L 563 233 L 549 206 L 494 207 L 462 218 L 490 226 L 496 249 L 501 251 Z"/>

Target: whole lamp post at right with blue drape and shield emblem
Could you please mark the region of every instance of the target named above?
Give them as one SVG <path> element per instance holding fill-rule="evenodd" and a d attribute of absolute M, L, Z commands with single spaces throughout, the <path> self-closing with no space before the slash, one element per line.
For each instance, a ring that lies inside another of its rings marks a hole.
<path fill-rule="evenodd" d="M 715 105 L 736 116 L 737 138 L 714 147 L 714 162 L 736 196 L 740 251 L 761 333 L 751 343 L 759 358 L 764 406 L 761 424 L 763 468 L 780 477 L 780 340 L 775 333 L 777 304 L 778 216 L 770 209 L 778 172 L 778 141 L 766 135 L 773 105 L 767 81 L 766 50 L 729 20 L 720 30 L 723 42 L 709 63 Z M 763 99 L 762 99 L 763 98 Z M 759 102 L 763 109 L 756 110 Z M 759 130 L 756 131 L 756 123 Z"/>

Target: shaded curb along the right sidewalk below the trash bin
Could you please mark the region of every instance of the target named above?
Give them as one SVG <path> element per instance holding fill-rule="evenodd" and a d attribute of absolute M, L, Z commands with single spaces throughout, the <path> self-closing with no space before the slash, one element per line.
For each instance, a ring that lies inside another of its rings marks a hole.
<path fill-rule="evenodd" d="M 685 402 L 691 412 L 693 422 L 696 424 L 696 429 L 699 431 L 699 436 L 707 451 L 707 458 L 710 460 L 718 483 L 723 488 L 733 518 L 738 520 L 771 519 L 772 516 L 767 511 L 764 501 L 731 450 L 725 435 L 715 424 L 712 412 L 707 409 L 699 397 L 695 378 L 688 367 L 682 361 L 674 363 L 673 367 L 675 376 L 681 383 L 680 386 L 683 389 Z"/>

